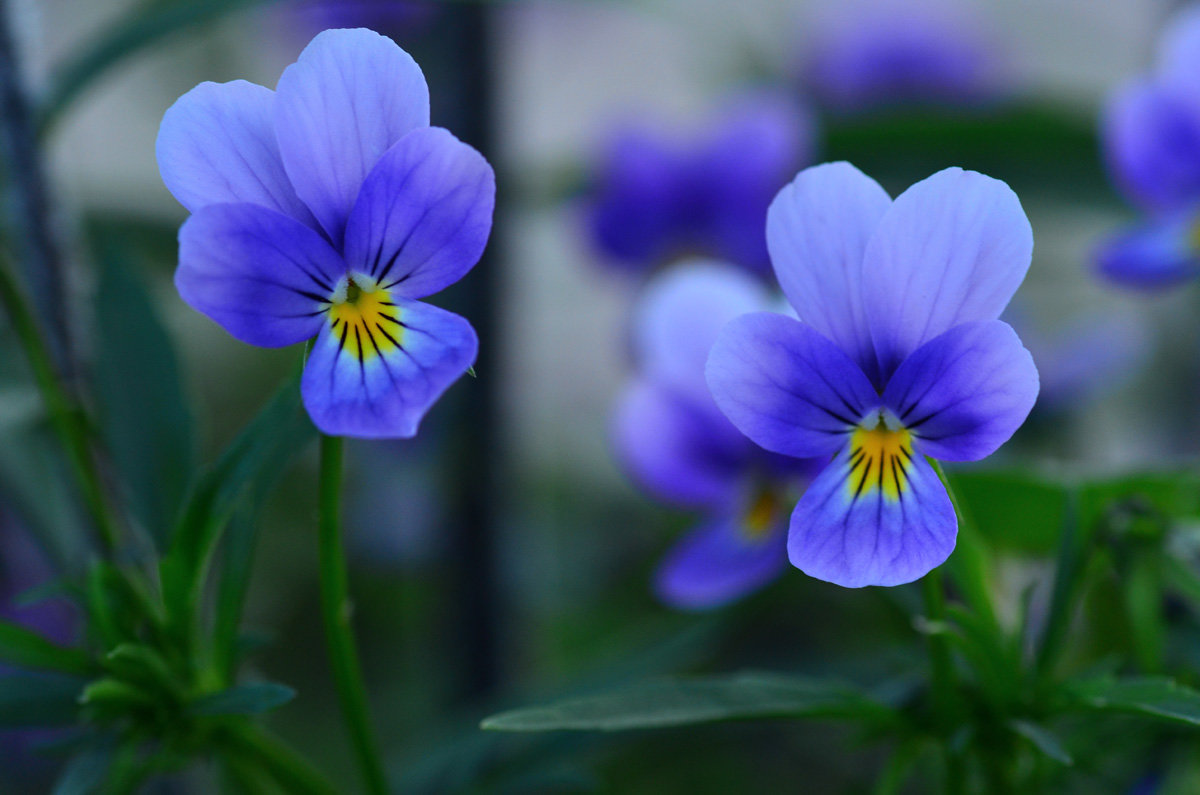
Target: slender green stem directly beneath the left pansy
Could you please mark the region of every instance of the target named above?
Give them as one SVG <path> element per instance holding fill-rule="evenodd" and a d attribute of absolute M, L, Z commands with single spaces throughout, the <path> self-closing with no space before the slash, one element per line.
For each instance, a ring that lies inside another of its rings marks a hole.
<path fill-rule="evenodd" d="M 366 687 L 359 667 L 354 635 L 350 632 L 350 599 L 348 594 L 346 552 L 342 549 L 342 440 L 320 437 L 320 504 L 318 513 L 320 612 L 325 620 L 325 642 L 329 663 L 334 669 L 342 715 L 350 731 L 354 753 L 359 758 L 367 791 L 386 795 L 388 785 L 379 761 L 379 752 L 367 715 Z"/>

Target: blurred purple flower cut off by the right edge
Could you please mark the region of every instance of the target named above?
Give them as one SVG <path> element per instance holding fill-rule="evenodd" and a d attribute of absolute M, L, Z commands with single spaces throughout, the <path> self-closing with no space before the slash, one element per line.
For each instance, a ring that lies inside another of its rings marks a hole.
<path fill-rule="evenodd" d="M 1114 91 L 1100 124 L 1109 172 L 1145 221 L 1105 240 L 1097 267 L 1139 288 L 1200 274 L 1200 7 L 1175 18 L 1158 55 L 1152 74 Z"/>

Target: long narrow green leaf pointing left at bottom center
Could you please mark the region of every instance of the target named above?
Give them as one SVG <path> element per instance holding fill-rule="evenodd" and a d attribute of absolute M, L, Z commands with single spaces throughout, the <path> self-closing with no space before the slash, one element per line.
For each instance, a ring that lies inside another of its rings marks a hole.
<path fill-rule="evenodd" d="M 502 712 L 484 729 L 619 731 L 748 718 L 890 721 L 889 707 L 848 685 L 775 674 L 646 682 L 541 707 Z"/>

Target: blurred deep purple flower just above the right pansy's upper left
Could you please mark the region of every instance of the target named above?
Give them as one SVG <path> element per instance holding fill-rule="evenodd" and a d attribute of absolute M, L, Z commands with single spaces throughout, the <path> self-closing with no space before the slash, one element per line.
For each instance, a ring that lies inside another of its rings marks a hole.
<path fill-rule="evenodd" d="M 731 98 L 698 138 L 619 125 L 593 169 L 592 241 L 631 270 L 700 255 L 767 275 L 767 205 L 811 149 L 809 116 L 768 91 Z"/>

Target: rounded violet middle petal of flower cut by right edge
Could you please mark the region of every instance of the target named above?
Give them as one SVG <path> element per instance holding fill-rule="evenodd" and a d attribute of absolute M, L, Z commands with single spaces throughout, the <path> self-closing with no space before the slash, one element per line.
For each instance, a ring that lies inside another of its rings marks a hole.
<path fill-rule="evenodd" d="M 1104 155 L 1122 191 L 1150 210 L 1200 198 L 1200 103 L 1152 80 L 1116 90 L 1100 120 Z"/>

